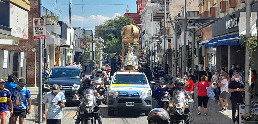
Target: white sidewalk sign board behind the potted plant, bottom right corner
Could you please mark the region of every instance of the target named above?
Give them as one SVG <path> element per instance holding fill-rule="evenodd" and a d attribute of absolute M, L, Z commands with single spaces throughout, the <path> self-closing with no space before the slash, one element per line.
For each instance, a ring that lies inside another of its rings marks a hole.
<path fill-rule="evenodd" d="M 251 111 L 253 111 L 254 114 L 258 114 L 258 103 L 251 104 Z M 244 123 L 244 114 L 245 114 L 245 104 L 238 104 L 238 115 L 239 115 L 238 124 Z"/>

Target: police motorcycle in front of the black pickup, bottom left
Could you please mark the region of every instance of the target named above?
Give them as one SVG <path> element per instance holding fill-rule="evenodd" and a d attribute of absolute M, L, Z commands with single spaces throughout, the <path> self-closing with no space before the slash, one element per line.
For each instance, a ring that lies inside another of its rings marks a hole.
<path fill-rule="evenodd" d="M 96 124 L 98 118 L 103 118 L 96 103 L 98 99 L 103 98 L 103 96 L 95 97 L 93 89 L 84 89 L 82 97 L 79 97 L 81 103 L 75 115 L 77 118 L 80 118 L 82 124 Z"/>

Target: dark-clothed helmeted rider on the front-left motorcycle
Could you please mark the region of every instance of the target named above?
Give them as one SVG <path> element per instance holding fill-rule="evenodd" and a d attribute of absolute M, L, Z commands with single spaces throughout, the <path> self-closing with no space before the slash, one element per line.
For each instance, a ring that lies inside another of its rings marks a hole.
<path fill-rule="evenodd" d="M 97 97 L 100 97 L 100 94 L 97 92 L 97 90 L 95 89 L 95 87 L 92 86 L 92 85 L 90 85 L 91 81 L 92 81 L 92 80 L 91 80 L 90 77 L 86 77 L 86 78 L 83 80 L 84 86 L 81 87 L 81 88 L 78 90 L 78 94 L 75 95 L 76 98 L 79 99 L 79 96 L 78 96 L 78 95 L 82 96 L 82 95 L 83 95 L 83 91 L 84 91 L 85 89 L 93 89 L 93 90 L 94 90 L 94 94 L 95 94 Z M 77 119 L 76 119 L 76 121 L 75 121 L 75 124 L 80 124 L 80 122 L 81 122 L 81 119 L 77 117 Z M 98 117 L 98 122 L 99 122 L 99 124 L 102 124 L 102 121 L 101 121 L 101 119 L 100 119 L 100 116 Z"/>

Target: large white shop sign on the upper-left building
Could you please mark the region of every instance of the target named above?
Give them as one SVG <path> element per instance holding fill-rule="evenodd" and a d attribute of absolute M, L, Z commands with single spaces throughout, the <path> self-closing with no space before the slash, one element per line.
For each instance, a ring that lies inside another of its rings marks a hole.
<path fill-rule="evenodd" d="M 10 3 L 11 35 L 28 39 L 28 12 Z"/>

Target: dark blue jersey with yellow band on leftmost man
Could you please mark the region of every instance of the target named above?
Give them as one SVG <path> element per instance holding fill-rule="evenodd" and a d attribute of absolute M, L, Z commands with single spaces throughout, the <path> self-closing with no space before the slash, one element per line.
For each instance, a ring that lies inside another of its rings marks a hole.
<path fill-rule="evenodd" d="M 3 89 L 2 92 L 0 92 L 0 111 L 7 111 L 7 99 L 11 98 L 11 92 L 8 89 Z"/>

